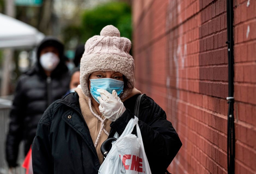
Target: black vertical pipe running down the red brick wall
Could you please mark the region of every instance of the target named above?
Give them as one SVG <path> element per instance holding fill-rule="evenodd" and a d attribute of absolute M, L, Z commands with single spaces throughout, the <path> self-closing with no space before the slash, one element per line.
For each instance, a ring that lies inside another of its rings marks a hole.
<path fill-rule="evenodd" d="M 228 130 L 227 168 L 228 174 L 235 173 L 235 127 L 234 127 L 234 39 L 233 39 L 233 0 L 227 0 L 227 44 L 228 44 Z"/>

